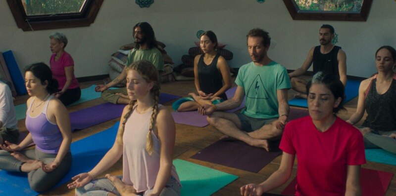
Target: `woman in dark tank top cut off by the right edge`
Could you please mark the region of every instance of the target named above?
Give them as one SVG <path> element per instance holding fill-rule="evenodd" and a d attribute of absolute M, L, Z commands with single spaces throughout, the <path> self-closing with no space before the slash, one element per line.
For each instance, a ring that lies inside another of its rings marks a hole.
<path fill-rule="evenodd" d="M 396 50 L 382 46 L 375 59 L 378 74 L 360 83 L 356 112 L 347 122 L 357 123 L 366 111 L 367 118 L 358 127 L 366 149 L 382 148 L 396 154 Z"/>

